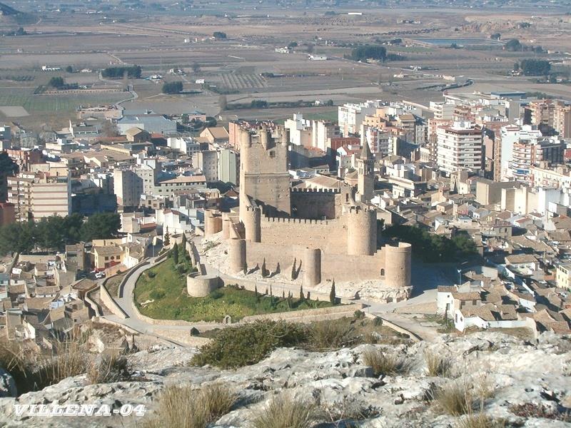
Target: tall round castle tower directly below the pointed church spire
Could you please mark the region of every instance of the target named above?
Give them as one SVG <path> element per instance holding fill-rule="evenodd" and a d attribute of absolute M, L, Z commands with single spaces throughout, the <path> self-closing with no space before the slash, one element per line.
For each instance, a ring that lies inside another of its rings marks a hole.
<path fill-rule="evenodd" d="M 361 206 L 350 207 L 347 218 L 347 253 L 373 255 L 377 250 L 377 212 Z"/>

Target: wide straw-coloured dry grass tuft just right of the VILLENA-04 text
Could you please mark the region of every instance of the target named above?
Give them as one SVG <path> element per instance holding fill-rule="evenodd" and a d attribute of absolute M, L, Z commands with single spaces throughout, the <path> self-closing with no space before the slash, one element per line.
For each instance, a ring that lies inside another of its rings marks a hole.
<path fill-rule="evenodd" d="M 206 428 L 208 424 L 230 412 L 236 394 L 221 384 L 201 389 L 166 387 L 158 399 L 155 416 L 146 428 Z"/>

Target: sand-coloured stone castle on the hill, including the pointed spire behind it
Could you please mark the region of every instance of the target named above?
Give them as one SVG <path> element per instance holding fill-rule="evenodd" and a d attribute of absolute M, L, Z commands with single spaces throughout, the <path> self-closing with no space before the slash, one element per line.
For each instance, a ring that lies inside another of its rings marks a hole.
<path fill-rule="evenodd" d="M 377 300 L 410 295 L 408 243 L 378 249 L 373 195 L 373 156 L 368 145 L 358 165 L 358 184 L 335 189 L 291 188 L 288 131 L 238 129 L 241 143 L 238 212 L 206 210 L 206 239 L 221 232 L 227 244 L 228 275 L 246 280 L 248 269 L 265 265 L 281 273 L 268 281 L 291 282 L 300 275 L 304 290 L 366 282 Z M 220 262 L 218 262 L 220 264 Z M 291 274 L 289 273 L 291 272 Z"/>

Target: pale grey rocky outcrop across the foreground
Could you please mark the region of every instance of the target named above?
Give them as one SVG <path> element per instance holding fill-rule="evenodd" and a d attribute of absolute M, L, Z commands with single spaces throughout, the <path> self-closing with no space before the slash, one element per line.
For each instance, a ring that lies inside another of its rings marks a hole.
<path fill-rule="evenodd" d="M 399 355 L 408 363 L 409 372 L 375 377 L 363 362 L 363 353 L 369 349 Z M 134 371 L 128 382 L 86 385 L 81 375 L 18 399 L 2 398 L 0 424 L 46 425 L 45 418 L 17 417 L 15 403 L 108 404 L 113 409 L 126 403 L 145 404 L 151 414 L 161 389 L 168 384 L 199 387 L 223 382 L 236 389 L 241 399 L 232 412 L 216 422 L 218 428 L 248 427 L 248 421 L 273 394 L 283 391 L 318 402 L 324 409 L 323 422 L 330 422 L 328 414 L 358 414 L 360 427 L 454 427 L 458 417 L 438 412 L 430 397 L 440 387 L 461 382 L 485 385 L 490 394 L 483 410 L 494 419 L 518 427 L 568 426 L 542 417 L 518 416 L 512 410 L 513 405 L 526 403 L 548 411 L 571 407 L 569 337 L 544 334 L 537 341 L 527 342 L 510 335 L 478 332 L 462 337 L 445 335 L 431 343 L 360 345 L 332 352 L 281 348 L 266 360 L 236 371 L 188 366 L 195 352 L 193 348 L 151 347 L 128 357 Z M 428 376 L 425 352 L 450 361 L 448 377 Z M 48 422 L 54 427 L 136 427 L 145 418 L 53 417 Z"/>

